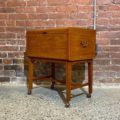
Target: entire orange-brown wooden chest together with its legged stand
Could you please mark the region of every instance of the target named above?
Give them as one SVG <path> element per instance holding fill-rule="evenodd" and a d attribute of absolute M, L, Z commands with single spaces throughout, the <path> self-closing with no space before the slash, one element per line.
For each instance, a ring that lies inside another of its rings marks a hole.
<path fill-rule="evenodd" d="M 45 30 L 29 30 L 26 34 L 26 55 L 29 58 L 28 92 L 31 93 L 33 80 L 33 62 L 35 59 L 52 62 L 54 78 L 54 63 L 66 63 L 66 106 L 70 101 L 72 64 L 88 63 L 89 96 L 92 93 L 92 60 L 96 55 L 96 31 L 77 27 L 53 28 Z M 54 85 L 55 81 L 52 82 Z M 76 84 L 74 88 L 85 85 Z"/>

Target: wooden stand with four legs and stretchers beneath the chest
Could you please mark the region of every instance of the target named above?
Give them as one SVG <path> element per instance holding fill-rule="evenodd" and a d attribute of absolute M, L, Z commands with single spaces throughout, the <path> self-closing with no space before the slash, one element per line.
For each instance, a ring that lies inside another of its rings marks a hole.
<path fill-rule="evenodd" d="M 90 98 L 91 97 L 91 93 L 92 93 L 92 84 L 93 84 L 93 60 L 80 60 L 80 61 L 61 61 L 61 60 L 53 60 L 53 59 L 43 59 L 43 58 L 33 58 L 33 57 L 29 57 L 28 59 L 28 68 L 29 68 L 29 72 L 28 72 L 28 94 L 30 95 L 32 93 L 32 88 L 33 88 L 33 80 L 34 80 L 34 76 L 33 76 L 33 72 L 34 72 L 34 67 L 33 67 L 33 63 L 35 60 L 42 60 L 42 61 L 47 61 L 47 62 L 51 62 L 52 66 L 52 73 L 50 76 L 47 76 L 52 78 L 52 85 L 51 85 L 51 89 L 54 89 L 54 85 L 57 82 L 62 82 L 62 84 L 66 84 L 66 101 L 65 101 L 65 107 L 69 107 L 70 106 L 70 100 L 71 100 L 71 90 L 72 89 L 76 89 L 76 88 L 82 88 L 84 86 L 88 86 L 88 94 L 87 97 Z M 66 64 L 66 81 L 59 81 L 59 80 L 55 80 L 55 63 L 65 63 Z M 81 83 L 72 83 L 71 81 L 71 74 L 72 74 L 72 65 L 75 63 L 87 63 L 88 64 L 88 82 L 85 84 L 81 84 Z"/>

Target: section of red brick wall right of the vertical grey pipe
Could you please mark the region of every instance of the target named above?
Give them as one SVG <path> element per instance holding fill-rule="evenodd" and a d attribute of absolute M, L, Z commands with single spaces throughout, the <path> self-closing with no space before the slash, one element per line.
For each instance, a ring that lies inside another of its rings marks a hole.
<path fill-rule="evenodd" d="M 98 0 L 97 11 L 99 52 L 94 62 L 95 81 L 118 84 L 120 83 L 120 0 Z"/>

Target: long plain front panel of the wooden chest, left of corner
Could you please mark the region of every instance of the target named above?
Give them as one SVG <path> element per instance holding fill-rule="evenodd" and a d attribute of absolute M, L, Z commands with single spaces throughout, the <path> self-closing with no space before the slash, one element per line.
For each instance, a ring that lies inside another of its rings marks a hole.
<path fill-rule="evenodd" d="M 34 57 L 66 59 L 67 35 L 27 33 L 27 54 Z"/>

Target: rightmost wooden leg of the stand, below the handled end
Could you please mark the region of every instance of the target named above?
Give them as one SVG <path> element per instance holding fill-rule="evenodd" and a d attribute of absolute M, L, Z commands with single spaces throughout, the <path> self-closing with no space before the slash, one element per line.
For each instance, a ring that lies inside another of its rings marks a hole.
<path fill-rule="evenodd" d="M 92 86 L 93 86 L 93 61 L 88 63 L 88 91 L 89 94 L 87 97 L 91 97 L 92 94 Z"/>

